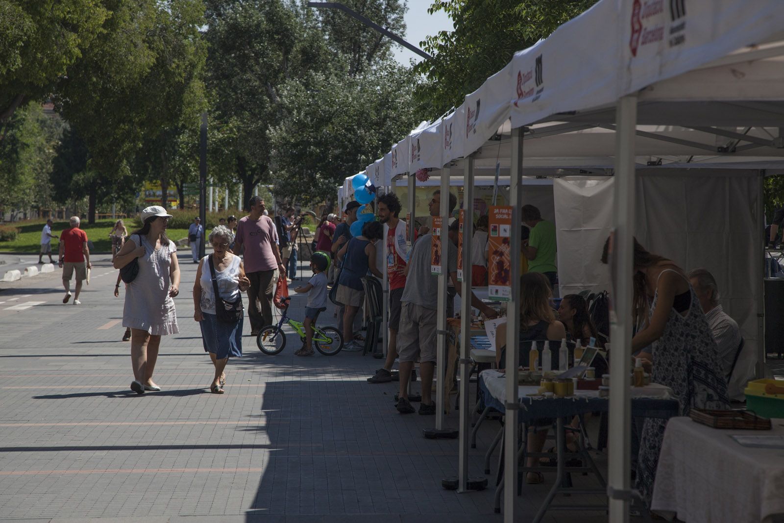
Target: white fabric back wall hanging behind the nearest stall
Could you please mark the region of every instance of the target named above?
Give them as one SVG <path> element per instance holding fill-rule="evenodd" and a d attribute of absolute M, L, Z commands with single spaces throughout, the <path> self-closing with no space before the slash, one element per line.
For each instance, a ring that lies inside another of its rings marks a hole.
<path fill-rule="evenodd" d="M 685 271 L 704 267 L 719 286 L 724 311 L 741 328 L 746 346 L 731 380 L 732 398 L 754 376 L 762 289 L 757 212 L 760 175 L 743 169 L 638 169 L 635 235 L 651 252 Z M 598 263 L 612 229 L 613 183 L 570 177 L 554 180 L 558 280 L 561 296 L 610 288 Z M 581 229 L 581 227 L 583 227 Z M 761 232 L 760 232 L 761 234 Z"/>

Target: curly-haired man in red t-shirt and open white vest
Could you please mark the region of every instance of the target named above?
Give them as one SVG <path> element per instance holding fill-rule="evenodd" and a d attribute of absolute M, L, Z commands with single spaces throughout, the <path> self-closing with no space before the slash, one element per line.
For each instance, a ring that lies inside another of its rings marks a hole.
<path fill-rule="evenodd" d="M 368 378 L 369 383 L 387 383 L 393 380 L 392 365 L 397 358 L 397 329 L 400 326 L 401 297 L 405 287 L 405 265 L 408 261 L 408 238 L 406 225 L 397 216 L 402 205 L 397 194 L 388 193 L 378 198 L 377 212 L 379 221 L 384 224 L 384 259 L 387 263 L 389 280 L 389 350 L 387 361 L 376 375 Z"/>

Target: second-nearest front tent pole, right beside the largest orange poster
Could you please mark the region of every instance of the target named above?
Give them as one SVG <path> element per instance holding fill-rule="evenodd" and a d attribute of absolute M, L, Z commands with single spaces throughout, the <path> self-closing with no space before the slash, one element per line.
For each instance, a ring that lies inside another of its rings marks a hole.
<path fill-rule="evenodd" d="M 524 129 L 512 129 L 512 164 L 509 173 L 509 205 L 512 207 L 512 227 L 510 228 L 510 279 L 511 295 L 506 305 L 506 405 L 504 405 L 506 421 L 504 426 L 504 465 L 503 465 L 503 521 L 514 523 L 514 501 L 517 492 L 517 423 L 520 419 L 517 401 L 517 365 L 520 355 L 517 340 L 520 338 L 520 256 L 521 256 L 521 209 L 523 206 L 523 134 Z"/>

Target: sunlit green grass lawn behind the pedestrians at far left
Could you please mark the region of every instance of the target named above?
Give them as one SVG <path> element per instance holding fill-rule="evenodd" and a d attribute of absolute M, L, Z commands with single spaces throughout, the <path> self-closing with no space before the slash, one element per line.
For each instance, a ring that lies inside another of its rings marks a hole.
<path fill-rule="evenodd" d="M 8 223 L 20 229 L 20 234 L 16 236 L 16 240 L 9 242 L 0 242 L 0 252 L 29 252 L 38 254 L 41 250 L 41 230 L 44 227 L 45 220 L 27 220 L 24 222 Z M 60 233 L 67 229 L 68 222 L 66 220 L 56 221 L 52 226 L 52 234 L 60 237 Z M 93 252 L 111 252 L 111 240 L 109 239 L 109 232 L 111 227 L 114 227 L 114 220 L 96 220 L 96 223 L 90 225 L 85 221 L 82 222 L 81 228 L 87 233 L 87 239 L 93 242 Z M 125 227 L 128 227 L 127 225 Z M 132 229 L 129 228 L 129 233 Z M 166 235 L 172 242 L 176 242 L 182 238 L 187 238 L 187 229 L 169 229 Z M 56 257 L 57 249 L 60 241 L 57 239 L 52 240 L 53 257 Z"/>

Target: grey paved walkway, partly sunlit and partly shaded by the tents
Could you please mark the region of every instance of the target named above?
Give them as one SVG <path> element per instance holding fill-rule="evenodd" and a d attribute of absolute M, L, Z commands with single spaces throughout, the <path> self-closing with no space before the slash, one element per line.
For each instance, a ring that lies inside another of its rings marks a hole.
<path fill-rule="evenodd" d="M 370 356 L 296 358 L 289 336 L 268 357 L 246 336 L 245 355 L 227 367 L 227 394 L 209 394 L 186 252 L 180 333 L 164 338 L 155 372 L 163 390 L 132 394 L 124 294 L 112 296 L 108 257 L 95 258 L 80 306 L 61 303 L 59 273 L 0 288 L 0 519 L 501 521 L 494 488 L 441 488 L 456 474 L 457 441 L 424 439 L 431 416 L 397 414 L 397 383 L 365 382 L 379 366 Z M 302 316 L 304 298 L 292 303 Z M 321 320 L 334 323 L 332 311 Z M 448 423 L 457 426 L 456 412 Z M 472 475 L 497 428 L 481 430 Z M 520 521 L 535 514 L 547 478 L 525 485 Z M 546 521 L 606 520 L 572 514 Z"/>

